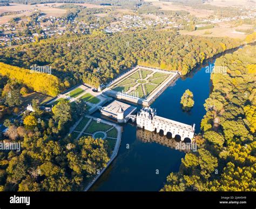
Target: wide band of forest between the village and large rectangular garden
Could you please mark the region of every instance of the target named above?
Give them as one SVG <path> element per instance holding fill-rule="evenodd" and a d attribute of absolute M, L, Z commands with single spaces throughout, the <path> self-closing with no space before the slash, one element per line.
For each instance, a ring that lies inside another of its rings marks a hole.
<path fill-rule="evenodd" d="M 49 65 L 52 74 L 70 86 L 80 82 L 98 86 L 137 64 L 186 75 L 205 59 L 241 45 L 239 39 L 182 36 L 170 29 L 100 34 L 68 37 L 68 43 L 51 38 L 1 49 L 0 62 L 26 69 Z"/>

